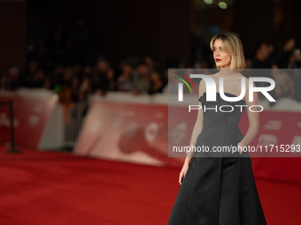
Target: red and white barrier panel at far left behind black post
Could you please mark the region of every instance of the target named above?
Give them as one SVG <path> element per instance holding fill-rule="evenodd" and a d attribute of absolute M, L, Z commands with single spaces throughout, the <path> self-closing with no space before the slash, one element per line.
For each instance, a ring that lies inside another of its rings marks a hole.
<path fill-rule="evenodd" d="M 15 143 L 40 149 L 61 148 L 64 114 L 58 95 L 44 89 L 19 89 L 0 93 L 1 101 L 13 101 Z M 0 108 L 0 141 L 10 142 L 9 110 Z"/>

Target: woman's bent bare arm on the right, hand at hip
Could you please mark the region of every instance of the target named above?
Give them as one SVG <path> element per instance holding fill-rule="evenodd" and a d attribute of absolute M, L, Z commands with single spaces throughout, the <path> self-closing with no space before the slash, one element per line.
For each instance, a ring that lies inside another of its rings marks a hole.
<path fill-rule="evenodd" d="M 249 79 L 246 79 L 246 86 L 249 86 Z M 255 87 L 255 85 L 253 84 L 253 86 Z M 242 141 L 240 143 L 238 143 L 238 146 L 241 146 L 243 148 L 243 146 L 248 146 L 252 139 L 254 139 L 257 135 L 257 133 L 259 132 L 259 112 L 251 112 L 249 110 L 249 108 L 251 107 L 251 105 L 258 105 L 259 104 L 259 94 L 254 93 L 253 94 L 253 101 L 250 101 L 249 98 L 249 88 L 246 88 L 246 94 L 245 94 L 245 102 L 248 106 L 247 109 L 247 114 L 248 114 L 248 119 L 249 119 L 249 128 L 248 131 L 246 132 L 246 134 L 244 135 Z M 252 107 L 251 108 L 253 111 L 259 111 L 259 107 Z M 240 148 L 240 150 L 242 150 L 242 148 Z M 240 151 L 239 154 L 242 154 L 242 151 Z"/>

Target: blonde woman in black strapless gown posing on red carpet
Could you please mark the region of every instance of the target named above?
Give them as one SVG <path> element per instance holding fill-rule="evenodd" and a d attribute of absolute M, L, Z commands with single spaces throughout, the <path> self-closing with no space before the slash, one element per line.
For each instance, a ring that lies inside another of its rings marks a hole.
<path fill-rule="evenodd" d="M 236 34 L 221 33 L 210 43 L 218 73 L 210 75 L 220 90 L 228 97 L 241 94 L 241 80 L 237 70 L 245 66 L 242 42 Z M 216 101 L 206 101 L 206 86 L 199 84 L 197 121 L 192 132 L 190 146 L 248 146 L 259 131 L 259 112 L 251 112 L 251 105 L 258 105 L 258 94 L 249 101 L 249 80 L 244 78 L 246 90 L 240 101 L 225 101 L 219 92 Z M 221 105 L 247 105 L 249 129 L 243 136 L 237 127 L 241 108 L 231 112 L 204 110 Z M 255 107 L 252 108 L 256 110 Z M 210 157 L 208 157 L 210 156 Z M 215 156 L 215 157 L 213 157 Z M 187 155 L 179 176 L 181 184 L 167 225 L 265 225 L 266 219 L 259 200 L 251 167 L 250 154 L 237 151 L 234 154 Z"/>

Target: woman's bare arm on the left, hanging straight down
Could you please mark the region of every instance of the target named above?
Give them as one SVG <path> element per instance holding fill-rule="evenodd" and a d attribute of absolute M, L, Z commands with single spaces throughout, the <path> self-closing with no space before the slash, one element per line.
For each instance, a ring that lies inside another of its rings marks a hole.
<path fill-rule="evenodd" d="M 198 93 L 199 93 L 199 97 L 201 97 L 204 92 L 205 92 L 205 81 L 202 79 L 200 81 L 199 84 L 199 89 L 198 89 Z M 199 101 L 198 104 L 202 106 L 202 103 Z M 202 129 L 203 129 L 203 109 L 198 109 L 197 110 L 197 121 L 196 124 L 192 130 L 192 134 L 191 134 L 191 139 L 190 139 L 190 145 L 189 146 L 196 146 L 196 142 L 197 142 L 197 137 L 198 135 L 201 133 Z M 182 179 L 185 177 L 186 172 L 189 168 L 189 162 L 191 161 L 191 158 L 193 156 L 193 152 L 189 152 L 189 154 L 187 154 L 185 161 L 184 161 L 184 165 L 181 169 L 180 172 L 180 176 L 179 176 L 179 183 L 181 184 Z"/>

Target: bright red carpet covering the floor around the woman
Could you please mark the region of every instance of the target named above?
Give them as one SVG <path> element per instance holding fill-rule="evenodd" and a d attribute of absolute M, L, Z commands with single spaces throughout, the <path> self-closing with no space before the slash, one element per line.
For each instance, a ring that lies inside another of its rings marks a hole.
<path fill-rule="evenodd" d="M 0 225 L 166 225 L 180 187 L 178 168 L 0 150 Z M 301 224 L 301 184 L 256 184 L 268 225 Z"/>

